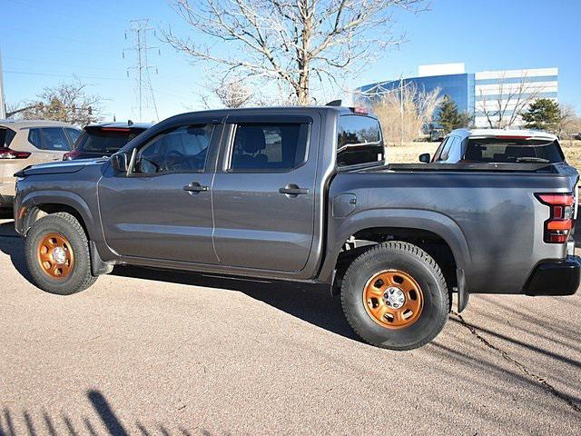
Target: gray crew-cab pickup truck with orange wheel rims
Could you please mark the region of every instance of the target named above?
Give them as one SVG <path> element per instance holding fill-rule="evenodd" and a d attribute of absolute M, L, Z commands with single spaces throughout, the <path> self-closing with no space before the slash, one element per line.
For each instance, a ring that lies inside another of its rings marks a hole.
<path fill-rule="evenodd" d="M 550 163 L 389 165 L 377 118 L 350 108 L 181 114 L 111 158 L 16 175 L 15 228 L 46 292 L 118 264 L 324 283 L 364 341 L 409 350 L 442 330 L 452 292 L 462 311 L 468 293 L 579 285 L 569 177 Z"/>

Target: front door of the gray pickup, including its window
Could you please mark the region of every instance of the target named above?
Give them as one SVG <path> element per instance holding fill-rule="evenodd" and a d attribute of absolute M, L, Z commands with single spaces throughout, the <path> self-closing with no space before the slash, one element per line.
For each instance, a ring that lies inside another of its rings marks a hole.
<path fill-rule="evenodd" d="M 218 263 L 212 244 L 214 124 L 176 125 L 137 146 L 129 174 L 99 183 L 106 242 L 123 256 Z M 213 138 L 213 139 L 212 139 Z"/>

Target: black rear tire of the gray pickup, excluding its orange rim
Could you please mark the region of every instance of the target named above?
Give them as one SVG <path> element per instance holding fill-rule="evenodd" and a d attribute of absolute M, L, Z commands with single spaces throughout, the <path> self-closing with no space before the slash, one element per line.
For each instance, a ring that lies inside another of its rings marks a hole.
<path fill-rule="evenodd" d="M 397 330 L 376 322 L 365 307 L 363 292 L 369 279 L 386 270 L 406 272 L 423 294 L 419 318 Z M 448 320 L 448 287 L 438 263 L 416 245 L 379 243 L 350 264 L 341 282 L 341 304 L 351 328 L 371 345 L 412 350 L 434 339 Z"/>

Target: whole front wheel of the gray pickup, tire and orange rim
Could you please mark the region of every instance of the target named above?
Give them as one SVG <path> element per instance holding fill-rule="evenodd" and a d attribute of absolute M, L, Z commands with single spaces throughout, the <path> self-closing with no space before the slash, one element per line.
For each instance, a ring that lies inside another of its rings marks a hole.
<path fill-rule="evenodd" d="M 70 295 L 96 280 L 86 234 L 70 213 L 36 221 L 26 234 L 25 257 L 34 284 L 45 292 Z"/>

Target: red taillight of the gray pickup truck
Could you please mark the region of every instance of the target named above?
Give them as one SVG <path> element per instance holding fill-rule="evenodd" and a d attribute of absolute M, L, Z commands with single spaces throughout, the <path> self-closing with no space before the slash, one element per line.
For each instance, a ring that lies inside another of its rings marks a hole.
<path fill-rule="evenodd" d="M 545 222 L 546 243 L 566 243 L 574 225 L 575 196 L 572 193 L 537 193 L 537 199 L 550 208 Z"/>

